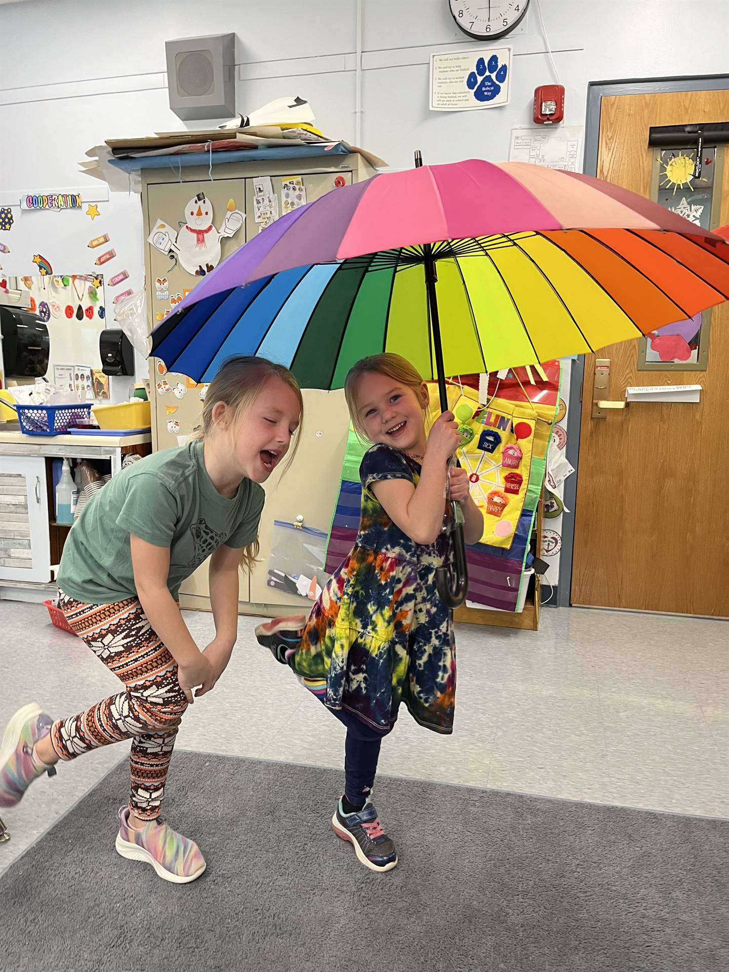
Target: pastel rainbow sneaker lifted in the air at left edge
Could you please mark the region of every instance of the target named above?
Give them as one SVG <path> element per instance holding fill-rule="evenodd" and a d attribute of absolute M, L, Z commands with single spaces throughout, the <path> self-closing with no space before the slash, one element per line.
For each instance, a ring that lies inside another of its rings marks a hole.
<path fill-rule="evenodd" d="M 18 709 L 0 743 L 0 807 L 15 807 L 38 777 L 55 767 L 33 759 L 33 746 L 51 732 L 53 720 L 36 702 Z"/>

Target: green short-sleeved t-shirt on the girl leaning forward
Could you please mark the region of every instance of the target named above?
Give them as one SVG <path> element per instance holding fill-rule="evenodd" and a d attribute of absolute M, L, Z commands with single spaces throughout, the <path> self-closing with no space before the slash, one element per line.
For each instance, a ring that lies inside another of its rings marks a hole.
<path fill-rule="evenodd" d="M 258 537 L 264 493 L 244 479 L 232 500 L 221 496 L 200 441 L 165 449 L 122 469 L 94 494 L 66 538 L 58 587 L 85 604 L 136 597 L 129 535 L 170 548 L 167 587 L 180 585 L 214 550 Z"/>

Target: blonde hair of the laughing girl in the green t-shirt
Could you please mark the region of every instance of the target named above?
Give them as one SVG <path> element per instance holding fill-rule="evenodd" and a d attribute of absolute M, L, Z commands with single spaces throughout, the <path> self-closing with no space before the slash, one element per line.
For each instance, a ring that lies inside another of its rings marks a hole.
<path fill-rule="evenodd" d="M 280 378 L 284 384 L 288 385 L 295 392 L 298 399 L 298 406 L 303 417 L 303 399 L 301 389 L 298 387 L 294 375 L 288 367 L 283 364 L 270 362 L 267 358 L 256 358 L 253 355 L 238 355 L 228 358 L 221 366 L 220 371 L 208 385 L 205 393 L 205 404 L 202 409 L 202 426 L 196 431 L 195 437 L 204 440 L 215 431 L 215 421 L 213 419 L 213 409 L 219 401 L 224 401 L 233 413 L 233 420 L 230 423 L 230 430 L 237 427 L 240 420 L 248 409 L 259 397 L 260 390 L 269 378 Z M 284 472 L 291 466 L 300 437 L 301 427 L 299 425 L 295 433 L 294 442 L 289 450 L 289 459 L 284 467 Z M 258 562 L 260 551 L 259 539 L 243 548 L 240 555 L 240 566 L 244 571 L 252 571 Z"/>

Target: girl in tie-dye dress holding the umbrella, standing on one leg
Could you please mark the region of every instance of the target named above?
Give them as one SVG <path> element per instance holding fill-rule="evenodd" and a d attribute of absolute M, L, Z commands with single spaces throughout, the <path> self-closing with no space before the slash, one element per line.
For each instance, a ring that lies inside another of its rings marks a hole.
<path fill-rule="evenodd" d="M 357 541 L 308 619 L 279 618 L 256 634 L 346 726 L 345 791 L 332 826 L 363 864 L 389 871 L 398 855 L 370 799 L 382 739 L 400 703 L 420 725 L 453 731 L 452 617 L 435 590 L 446 492 L 463 502 L 467 542 L 481 537 L 483 518 L 465 470 L 450 468 L 459 445 L 453 415 L 426 434 L 428 388 L 409 362 L 365 358 L 347 375 L 345 395 L 356 431 L 373 443 L 360 467 Z"/>

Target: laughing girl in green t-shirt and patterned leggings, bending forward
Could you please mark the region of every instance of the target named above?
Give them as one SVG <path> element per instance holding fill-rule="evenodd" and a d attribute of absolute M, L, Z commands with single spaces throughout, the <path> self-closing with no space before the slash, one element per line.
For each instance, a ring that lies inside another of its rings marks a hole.
<path fill-rule="evenodd" d="M 0 744 L 0 807 L 30 783 L 98 746 L 131 739 L 131 794 L 117 851 L 165 881 L 194 881 L 194 841 L 157 820 L 183 713 L 209 692 L 237 635 L 238 567 L 258 553 L 265 482 L 295 442 L 301 392 L 279 364 L 233 358 L 210 383 L 198 439 L 134 463 L 87 503 L 66 540 L 59 607 L 123 691 L 54 721 L 35 703 Z M 211 556 L 212 555 L 212 556 Z M 180 584 L 210 556 L 215 638 L 202 651 L 177 603 Z"/>

